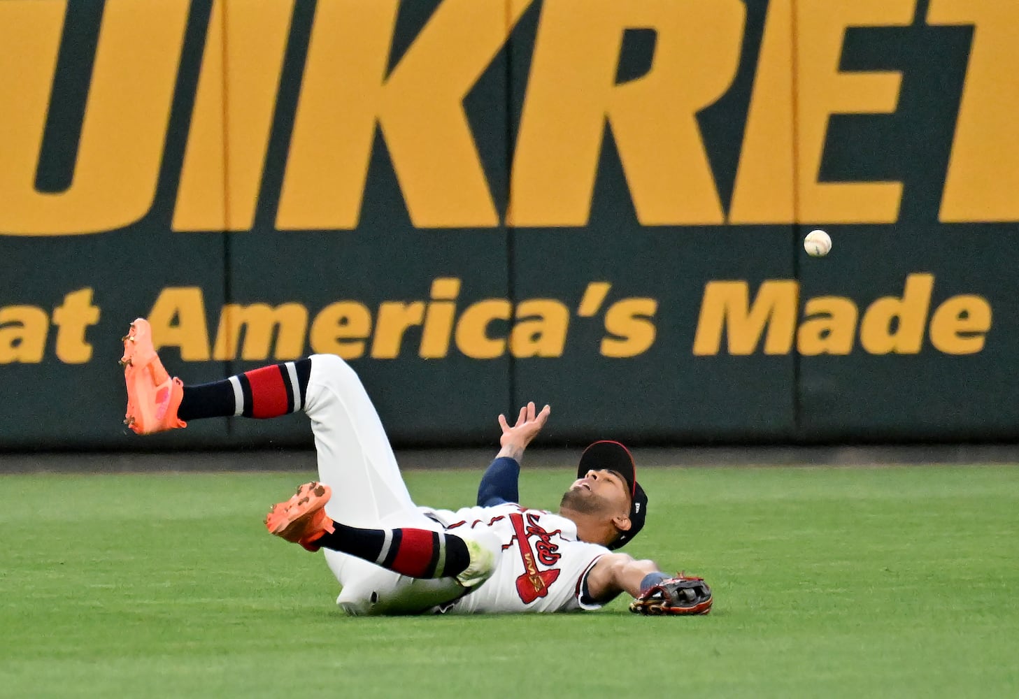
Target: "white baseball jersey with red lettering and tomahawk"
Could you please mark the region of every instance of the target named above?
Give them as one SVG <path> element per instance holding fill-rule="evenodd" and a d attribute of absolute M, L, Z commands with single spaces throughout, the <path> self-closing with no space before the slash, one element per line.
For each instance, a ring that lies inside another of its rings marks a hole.
<path fill-rule="evenodd" d="M 577 525 L 517 504 L 425 509 L 450 534 L 485 529 L 498 539 L 495 569 L 482 585 L 436 610 L 447 613 L 571 611 L 601 605 L 581 600 L 584 579 L 608 549 L 577 539 Z"/>

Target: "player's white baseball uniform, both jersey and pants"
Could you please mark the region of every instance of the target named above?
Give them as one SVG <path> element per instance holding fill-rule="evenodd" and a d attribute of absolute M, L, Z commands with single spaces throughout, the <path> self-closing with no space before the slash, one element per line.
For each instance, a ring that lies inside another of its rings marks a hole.
<path fill-rule="evenodd" d="M 583 604 L 584 576 L 608 549 L 577 540 L 573 522 L 516 504 L 454 512 L 418 507 L 400 476 L 375 407 L 354 369 L 335 355 L 313 355 L 304 411 L 312 423 L 319 480 L 332 488 L 325 510 L 355 527 L 415 527 L 477 533 L 492 551 L 489 579 L 464 595 L 455 578 L 415 579 L 340 551 L 325 559 L 350 614 L 568 611 Z M 481 529 L 483 528 L 483 532 Z M 438 606 L 436 606 L 438 605 Z M 449 609 L 451 605 L 451 609 Z"/>

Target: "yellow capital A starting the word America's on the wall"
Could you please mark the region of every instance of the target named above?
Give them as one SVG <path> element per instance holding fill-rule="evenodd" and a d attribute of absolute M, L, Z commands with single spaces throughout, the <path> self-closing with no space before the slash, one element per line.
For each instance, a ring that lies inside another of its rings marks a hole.
<path fill-rule="evenodd" d="M 146 318 L 156 350 L 180 347 L 180 359 L 185 362 L 209 361 L 209 329 L 200 287 L 167 286 Z"/>

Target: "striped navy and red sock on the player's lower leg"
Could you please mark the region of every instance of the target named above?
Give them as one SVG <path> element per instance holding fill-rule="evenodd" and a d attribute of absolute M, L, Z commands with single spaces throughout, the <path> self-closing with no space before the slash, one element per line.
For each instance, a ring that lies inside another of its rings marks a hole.
<path fill-rule="evenodd" d="M 471 564 L 467 544 L 455 534 L 427 529 L 358 529 L 334 523 L 315 540 L 411 578 L 451 578 Z"/>

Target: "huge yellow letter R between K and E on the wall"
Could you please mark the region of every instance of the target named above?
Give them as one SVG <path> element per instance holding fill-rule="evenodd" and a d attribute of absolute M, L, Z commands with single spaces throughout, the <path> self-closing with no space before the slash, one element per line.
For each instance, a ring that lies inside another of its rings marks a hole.
<path fill-rule="evenodd" d="M 587 223 L 607 119 L 641 223 L 721 223 L 696 113 L 735 78 L 745 16 L 735 0 L 545 0 L 507 222 Z M 616 86 L 628 28 L 655 30 L 655 56 L 647 75 Z"/>

